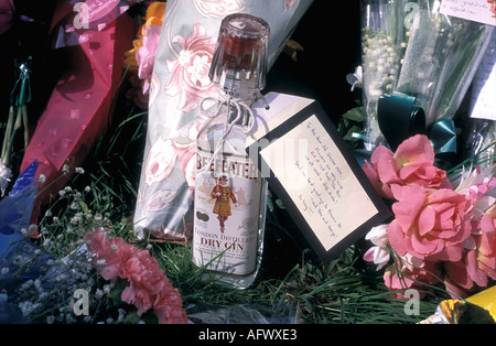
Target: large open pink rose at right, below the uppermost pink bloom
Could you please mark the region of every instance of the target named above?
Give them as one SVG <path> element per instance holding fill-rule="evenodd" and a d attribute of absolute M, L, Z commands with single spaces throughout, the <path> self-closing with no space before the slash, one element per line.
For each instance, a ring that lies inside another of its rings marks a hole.
<path fill-rule="evenodd" d="M 397 203 L 396 220 L 389 225 L 389 242 L 403 256 L 423 260 L 460 261 L 463 241 L 471 236 L 466 217 L 470 203 L 452 190 L 419 185 L 391 187 Z"/>

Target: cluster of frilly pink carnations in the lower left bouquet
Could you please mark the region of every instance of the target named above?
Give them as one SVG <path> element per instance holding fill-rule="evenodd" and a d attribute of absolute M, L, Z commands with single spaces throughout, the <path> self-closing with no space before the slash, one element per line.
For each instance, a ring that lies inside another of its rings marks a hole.
<path fill-rule="evenodd" d="M 134 304 L 138 315 L 153 309 L 159 323 L 187 323 L 180 293 L 150 252 L 133 247 L 122 238 L 109 239 L 101 228 L 90 231 L 86 239 L 100 275 L 111 282 L 118 278 L 129 282 L 121 299 Z"/>

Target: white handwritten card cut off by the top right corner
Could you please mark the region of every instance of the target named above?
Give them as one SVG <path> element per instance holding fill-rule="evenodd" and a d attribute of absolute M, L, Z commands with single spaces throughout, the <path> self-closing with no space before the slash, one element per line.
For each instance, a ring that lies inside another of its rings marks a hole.
<path fill-rule="evenodd" d="M 442 0 L 440 12 L 484 24 L 496 25 L 487 0 Z"/>

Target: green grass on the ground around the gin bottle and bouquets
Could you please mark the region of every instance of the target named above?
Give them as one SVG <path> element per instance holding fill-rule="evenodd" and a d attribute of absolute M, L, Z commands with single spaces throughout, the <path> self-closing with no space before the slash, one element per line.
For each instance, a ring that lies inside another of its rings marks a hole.
<path fill-rule="evenodd" d="M 213 306 L 244 306 L 273 318 L 293 323 L 417 323 L 431 315 L 439 300 L 421 302 L 419 316 L 407 315 L 405 301 L 395 300 L 384 285 L 382 273 L 370 270 L 357 246 L 347 249 L 328 266 L 294 252 L 293 267 L 281 267 L 247 290 L 233 290 L 204 281 L 204 269 L 192 261 L 188 245 L 159 239 L 137 239 L 133 235 L 132 202 L 136 198 L 137 174 L 142 160 L 144 113 L 129 112 L 103 136 L 96 151 L 76 175 L 73 187 L 66 187 L 52 203 L 41 221 L 40 245 L 57 257 L 67 256 L 79 246 L 85 231 L 105 227 L 111 235 L 125 238 L 154 256 L 166 277 L 181 293 L 186 312 L 207 312 Z M 363 121 L 360 108 L 343 116 L 341 131 L 348 142 L 359 145 L 352 134 Z M 129 136 L 132 133 L 132 136 Z M 356 132 L 358 133 L 358 132 Z M 129 140 L 131 138 L 131 140 Z M 268 206 L 267 231 L 274 238 L 290 234 L 284 206 L 276 196 Z M 47 239 L 54 241 L 48 242 Z M 293 240 L 294 241 L 294 240 Z M 292 256 L 293 256 L 292 255 Z M 289 259 L 288 259 L 289 260 Z M 290 261 L 290 262 L 291 262 Z M 267 266 L 272 266 L 270 262 Z M 99 283 L 103 289 L 105 282 Z M 151 312 L 138 316 L 132 309 L 118 309 L 125 283 L 117 281 L 110 294 L 91 305 L 91 323 L 153 323 Z M 44 317 L 43 317 L 44 318 Z M 80 318 L 79 318 L 80 320 Z M 79 321 L 78 320 L 78 321 Z"/>

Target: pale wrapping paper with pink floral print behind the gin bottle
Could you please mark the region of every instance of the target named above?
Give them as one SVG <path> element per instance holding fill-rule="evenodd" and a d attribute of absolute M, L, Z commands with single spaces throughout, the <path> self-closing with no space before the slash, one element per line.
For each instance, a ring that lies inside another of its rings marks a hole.
<path fill-rule="evenodd" d="M 192 230 L 200 105 L 224 17 L 250 13 L 270 25 L 269 67 L 313 0 L 169 0 L 153 73 L 143 165 L 134 210 L 139 237 L 184 240 Z"/>

